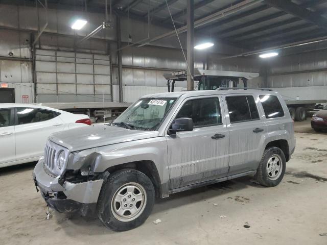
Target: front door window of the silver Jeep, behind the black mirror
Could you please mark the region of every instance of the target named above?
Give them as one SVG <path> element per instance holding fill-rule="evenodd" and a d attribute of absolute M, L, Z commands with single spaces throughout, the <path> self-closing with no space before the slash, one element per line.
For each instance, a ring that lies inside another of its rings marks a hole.
<path fill-rule="evenodd" d="M 193 127 L 208 127 L 221 124 L 218 98 L 197 99 L 185 102 L 176 118 L 193 119 Z"/>

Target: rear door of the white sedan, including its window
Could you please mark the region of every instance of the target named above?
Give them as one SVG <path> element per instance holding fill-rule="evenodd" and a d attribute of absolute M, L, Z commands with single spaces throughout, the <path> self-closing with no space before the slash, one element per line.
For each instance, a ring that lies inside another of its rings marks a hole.
<path fill-rule="evenodd" d="M 43 155 L 46 139 L 50 134 L 62 131 L 64 124 L 58 113 L 21 107 L 15 110 L 15 138 L 17 160 Z"/>

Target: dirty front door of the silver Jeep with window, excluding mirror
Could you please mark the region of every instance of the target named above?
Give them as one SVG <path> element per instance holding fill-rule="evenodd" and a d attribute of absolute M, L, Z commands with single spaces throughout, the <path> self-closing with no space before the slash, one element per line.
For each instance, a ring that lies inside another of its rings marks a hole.
<path fill-rule="evenodd" d="M 171 189 L 227 175 L 229 134 L 221 105 L 219 95 L 191 97 L 174 114 L 192 118 L 194 129 L 166 135 Z"/>

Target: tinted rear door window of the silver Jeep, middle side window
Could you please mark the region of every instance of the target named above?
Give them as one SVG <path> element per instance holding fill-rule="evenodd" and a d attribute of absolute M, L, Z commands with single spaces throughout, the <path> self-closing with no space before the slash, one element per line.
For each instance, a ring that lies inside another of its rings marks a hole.
<path fill-rule="evenodd" d="M 258 108 L 251 95 L 226 97 L 229 120 L 231 123 L 259 119 Z"/>

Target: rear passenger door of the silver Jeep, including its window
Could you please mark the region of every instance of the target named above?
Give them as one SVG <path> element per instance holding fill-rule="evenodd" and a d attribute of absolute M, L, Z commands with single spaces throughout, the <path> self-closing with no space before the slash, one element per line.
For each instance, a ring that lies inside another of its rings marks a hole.
<path fill-rule="evenodd" d="M 226 94 L 223 101 L 229 129 L 229 173 L 256 170 L 262 157 L 267 126 L 259 107 L 259 96 Z"/>

